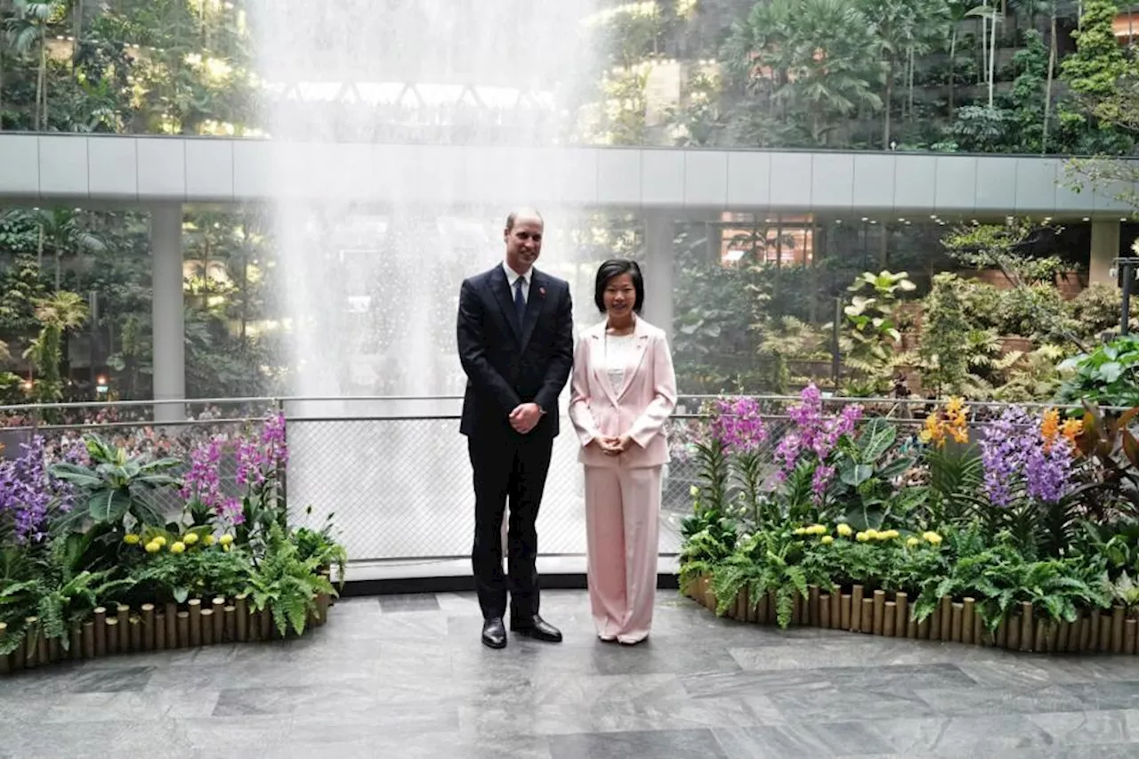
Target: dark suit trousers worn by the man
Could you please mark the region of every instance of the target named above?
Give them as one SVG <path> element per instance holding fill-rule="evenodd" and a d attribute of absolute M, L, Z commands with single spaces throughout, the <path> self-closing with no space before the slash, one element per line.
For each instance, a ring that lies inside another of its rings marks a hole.
<path fill-rule="evenodd" d="M 523 625 L 538 614 L 538 511 L 550 468 L 554 439 L 513 435 L 467 439 L 475 487 L 472 564 L 483 619 L 506 617 Z M 502 573 L 503 516 L 507 572 Z"/>

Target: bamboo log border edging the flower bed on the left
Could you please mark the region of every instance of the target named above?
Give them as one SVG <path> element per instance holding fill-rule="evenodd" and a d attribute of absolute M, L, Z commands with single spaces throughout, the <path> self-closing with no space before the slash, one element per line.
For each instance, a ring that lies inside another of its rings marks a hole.
<path fill-rule="evenodd" d="M 317 610 L 309 613 L 305 632 L 328 622 L 331 598 L 319 594 L 316 602 Z M 253 604 L 245 594 L 233 598 L 190 598 L 181 605 L 145 603 L 137 609 L 123 604 L 99 606 L 92 610 L 91 619 L 77 622 L 67 631 L 66 643 L 60 638 L 44 637 L 35 617 L 25 620 L 25 629 L 26 634 L 16 650 L 0 655 L 0 677 L 59 661 L 281 637 L 269 610 L 253 611 Z M 7 635 L 8 626 L 0 622 L 0 644 Z M 286 637 L 295 637 L 292 628 Z"/>

